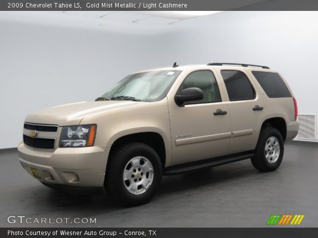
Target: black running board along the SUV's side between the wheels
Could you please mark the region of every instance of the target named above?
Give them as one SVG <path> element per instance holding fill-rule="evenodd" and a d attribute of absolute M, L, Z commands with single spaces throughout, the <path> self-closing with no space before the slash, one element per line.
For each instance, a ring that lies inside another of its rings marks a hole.
<path fill-rule="evenodd" d="M 216 166 L 225 165 L 225 164 L 229 164 L 229 163 L 233 163 L 233 162 L 237 162 L 241 160 L 250 159 L 253 156 L 254 156 L 254 153 L 248 152 L 243 154 L 240 153 L 240 154 L 234 154 L 230 156 L 222 156 L 218 158 L 201 160 L 201 161 L 196 161 L 196 162 L 191 162 L 191 163 L 186 163 L 181 165 L 169 166 L 163 170 L 163 175 L 177 175 L 177 174 L 186 173 L 188 171 L 199 170 L 202 168 L 216 167 Z"/>

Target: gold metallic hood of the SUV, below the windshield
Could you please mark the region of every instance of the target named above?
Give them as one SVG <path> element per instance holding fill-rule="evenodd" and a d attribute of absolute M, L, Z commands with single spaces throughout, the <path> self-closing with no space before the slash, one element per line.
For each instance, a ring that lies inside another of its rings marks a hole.
<path fill-rule="evenodd" d="M 145 102 L 114 100 L 72 103 L 31 113 L 25 118 L 25 121 L 41 124 L 78 125 L 85 116 L 108 110 L 133 107 L 142 103 Z"/>

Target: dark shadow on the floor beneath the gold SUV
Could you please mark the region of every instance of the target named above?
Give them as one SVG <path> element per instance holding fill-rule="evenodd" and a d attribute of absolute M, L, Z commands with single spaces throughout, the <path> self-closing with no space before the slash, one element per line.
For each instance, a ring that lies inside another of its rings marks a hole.
<path fill-rule="evenodd" d="M 173 194 L 186 193 L 192 189 L 204 189 L 204 187 L 231 185 L 233 182 L 240 182 L 239 179 L 252 179 L 259 173 L 246 162 L 226 165 L 218 168 L 206 168 L 186 174 L 175 176 L 164 176 L 162 178 L 159 191 L 152 203 L 160 202 L 162 198 Z M 242 182 L 242 181 L 241 181 Z M 101 213 L 112 212 L 114 210 L 125 209 L 125 207 L 114 202 L 104 191 L 103 194 L 76 195 L 55 191 L 50 188 L 41 188 L 38 192 L 46 190 L 46 206 L 58 206 L 67 209 L 81 209 L 86 211 L 100 211 Z M 40 191 L 41 190 L 41 191 Z M 42 194 L 43 197 L 43 194 Z"/>

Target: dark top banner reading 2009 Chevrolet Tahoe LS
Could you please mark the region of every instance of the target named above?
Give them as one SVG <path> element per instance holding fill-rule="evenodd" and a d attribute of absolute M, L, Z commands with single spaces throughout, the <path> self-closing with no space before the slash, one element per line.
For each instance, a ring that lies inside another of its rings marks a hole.
<path fill-rule="evenodd" d="M 1 0 L 1 11 L 318 10 L 317 0 Z"/>

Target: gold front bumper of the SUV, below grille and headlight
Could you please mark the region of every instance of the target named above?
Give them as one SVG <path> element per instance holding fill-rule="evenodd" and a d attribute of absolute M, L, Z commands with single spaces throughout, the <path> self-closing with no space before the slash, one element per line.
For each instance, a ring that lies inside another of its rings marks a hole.
<path fill-rule="evenodd" d="M 33 177 L 31 168 L 39 172 L 39 181 L 48 185 L 102 187 L 109 146 L 57 148 L 42 150 L 18 145 L 19 161 Z"/>

